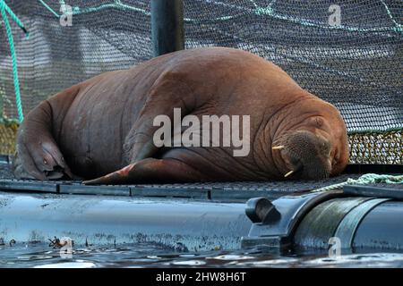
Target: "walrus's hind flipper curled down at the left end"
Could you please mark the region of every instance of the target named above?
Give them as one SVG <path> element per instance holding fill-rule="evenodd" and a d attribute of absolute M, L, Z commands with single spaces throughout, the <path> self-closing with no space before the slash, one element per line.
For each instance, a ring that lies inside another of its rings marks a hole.
<path fill-rule="evenodd" d="M 73 89 L 66 89 L 54 98 L 68 97 Z M 51 180 L 60 179 L 64 175 L 75 178 L 53 137 L 53 116 L 51 103 L 44 100 L 21 123 L 13 159 L 16 178 Z"/>

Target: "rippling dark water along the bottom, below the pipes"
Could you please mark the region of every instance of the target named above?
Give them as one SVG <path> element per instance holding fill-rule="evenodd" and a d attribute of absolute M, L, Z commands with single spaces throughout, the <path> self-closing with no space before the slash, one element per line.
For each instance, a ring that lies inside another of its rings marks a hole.
<path fill-rule="evenodd" d="M 176 252 L 152 243 L 124 247 L 74 248 L 72 258 L 45 243 L 0 247 L 0 267 L 403 267 L 403 254 L 349 254 L 330 258 L 324 253 L 280 256 L 266 250 Z"/>

